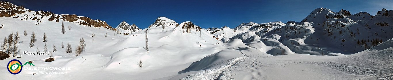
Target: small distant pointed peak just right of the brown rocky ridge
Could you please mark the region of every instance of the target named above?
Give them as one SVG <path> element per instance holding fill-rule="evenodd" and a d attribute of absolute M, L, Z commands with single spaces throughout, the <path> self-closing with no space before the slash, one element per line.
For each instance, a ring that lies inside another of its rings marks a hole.
<path fill-rule="evenodd" d="M 118 25 L 118 27 L 116 27 L 116 30 L 120 34 L 130 34 L 141 31 L 142 29 L 138 28 L 138 26 L 136 26 L 135 24 L 130 25 L 127 22 L 123 21 Z"/>

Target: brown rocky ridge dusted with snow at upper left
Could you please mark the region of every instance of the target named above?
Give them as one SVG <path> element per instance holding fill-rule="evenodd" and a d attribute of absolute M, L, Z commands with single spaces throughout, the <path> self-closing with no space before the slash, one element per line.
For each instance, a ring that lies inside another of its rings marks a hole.
<path fill-rule="evenodd" d="M 59 23 L 59 19 L 76 23 L 79 25 L 91 26 L 91 27 L 104 27 L 110 30 L 116 30 L 109 26 L 105 21 L 93 20 L 84 16 L 77 16 L 75 14 L 54 14 L 52 12 L 44 11 L 32 11 L 25 9 L 21 6 L 13 5 L 9 2 L 0 2 L 0 17 L 13 17 L 20 20 L 36 21 L 36 25 L 39 25 L 43 20 L 53 21 Z"/>

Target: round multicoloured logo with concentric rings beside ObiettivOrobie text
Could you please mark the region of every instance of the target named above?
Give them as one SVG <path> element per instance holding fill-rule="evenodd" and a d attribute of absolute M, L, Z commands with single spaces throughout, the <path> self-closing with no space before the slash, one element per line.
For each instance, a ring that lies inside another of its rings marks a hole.
<path fill-rule="evenodd" d="M 22 64 L 17 59 L 13 59 L 13 60 L 9 61 L 8 65 L 7 65 L 8 72 L 11 74 L 14 74 L 14 75 L 20 73 L 20 71 L 22 71 L 22 67 L 23 67 L 21 65 Z"/>

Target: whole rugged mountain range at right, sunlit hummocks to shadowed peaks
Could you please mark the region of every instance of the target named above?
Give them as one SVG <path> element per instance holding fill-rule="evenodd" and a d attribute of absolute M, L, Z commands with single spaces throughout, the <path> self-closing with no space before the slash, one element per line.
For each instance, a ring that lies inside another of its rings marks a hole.
<path fill-rule="evenodd" d="M 391 14 L 393 10 L 386 9 L 372 16 L 367 12 L 352 15 L 344 9 L 333 12 L 330 9 L 318 8 L 302 22 L 250 22 L 242 23 L 234 29 L 222 27 L 206 30 L 222 42 L 238 38 L 246 45 L 272 55 L 275 54 L 270 50 L 275 47 L 285 50 L 282 51 L 284 53 L 291 51 L 291 54 L 354 54 L 393 38 L 389 36 L 393 33 Z M 266 42 L 271 41 L 270 39 L 277 41 Z"/>

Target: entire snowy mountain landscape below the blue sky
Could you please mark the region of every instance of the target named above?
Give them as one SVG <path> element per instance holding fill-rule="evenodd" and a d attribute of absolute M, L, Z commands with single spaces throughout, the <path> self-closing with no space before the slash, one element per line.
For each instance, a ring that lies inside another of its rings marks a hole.
<path fill-rule="evenodd" d="M 392 12 L 143 29 L 0 2 L 0 80 L 393 80 Z"/>

